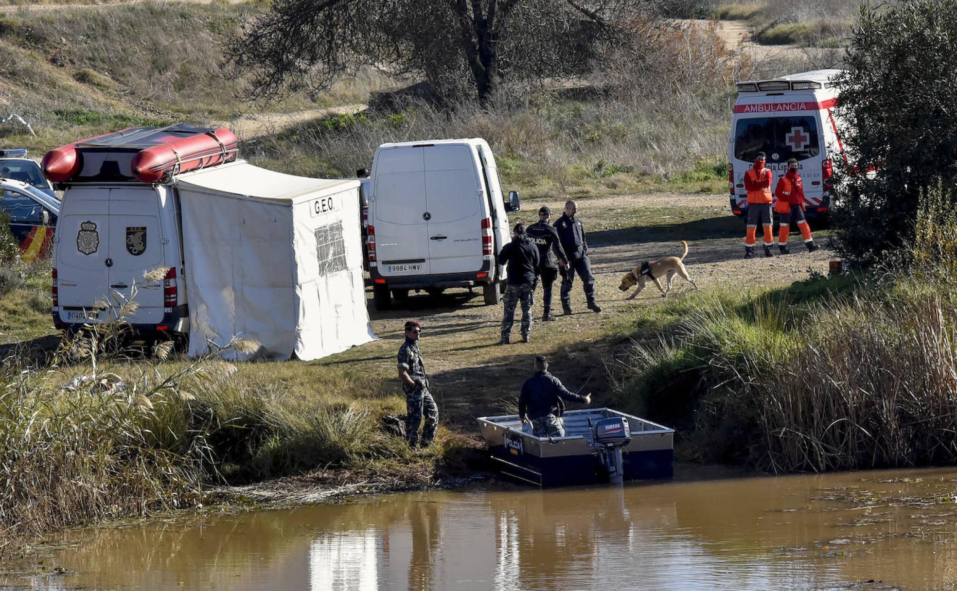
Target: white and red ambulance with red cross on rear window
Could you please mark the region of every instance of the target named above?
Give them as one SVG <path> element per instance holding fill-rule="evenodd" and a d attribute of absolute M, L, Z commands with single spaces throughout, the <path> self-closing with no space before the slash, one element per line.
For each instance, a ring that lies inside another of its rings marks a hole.
<path fill-rule="evenodd" d="M 804 180 L 805 213 L 809 218 L 831 208 L 830 179 L 835 163 L 846 163 L 842 134 L 835 118 L 839 70 L 815 70 L 767 80 L 738 82 L 728 141 L 728 188 L 731 211 L 747 215 L 745 171 L 764 152 L 774 183 L 797 160 Z M 771 187 L 773 189 L 773 186 Z"/>

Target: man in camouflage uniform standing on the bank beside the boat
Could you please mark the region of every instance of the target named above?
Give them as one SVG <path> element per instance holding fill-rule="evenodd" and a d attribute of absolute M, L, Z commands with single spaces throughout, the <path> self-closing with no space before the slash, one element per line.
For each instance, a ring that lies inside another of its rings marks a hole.
<path fill-rule="evenodd" d="M 423 416 L 423 448 L 432 443 L 435 427 L 438 427 L 438 407 L 429 393 L 429 379 L 418 348 L 421 332 L 421 324 L 415 320 L 406 322 L 406 341 L 399 347 L 399 380 L 402 381 L 402 391 L 406 393 L 406 439 L 412 449 L 418 446 L 418 429 Z"/>

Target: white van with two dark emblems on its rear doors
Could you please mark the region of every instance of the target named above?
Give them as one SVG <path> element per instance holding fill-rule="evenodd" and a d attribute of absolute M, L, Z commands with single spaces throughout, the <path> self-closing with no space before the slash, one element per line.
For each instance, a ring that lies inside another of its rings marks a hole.
<path fill-rule="evenodd" d="M 138 330 L 187 334 L 174 189 L 142 183 L 69 185 L 62 203 L 54 238 L 56 328 L 115 320 L 116 304 L 132 298 L 135 289 L 137 308 L 125 321 Z M 144 272 L 157 267 L 169 268 L 166 277 L 146 282 Z"/>

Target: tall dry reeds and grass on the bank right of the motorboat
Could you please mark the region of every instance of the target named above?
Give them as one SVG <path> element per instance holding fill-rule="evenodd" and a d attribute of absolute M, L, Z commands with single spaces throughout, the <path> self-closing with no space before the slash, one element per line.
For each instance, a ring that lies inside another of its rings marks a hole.
<path fill-rule="evenodd" d="M 636 333 L 617 401 L 677 423 L 703 459 L 769 471 L 955 463 L 957 308 L 939 284 L 890 280 L 834 296 L 817 278 L 800 301 L 691 296 L 686 316 Z"/>

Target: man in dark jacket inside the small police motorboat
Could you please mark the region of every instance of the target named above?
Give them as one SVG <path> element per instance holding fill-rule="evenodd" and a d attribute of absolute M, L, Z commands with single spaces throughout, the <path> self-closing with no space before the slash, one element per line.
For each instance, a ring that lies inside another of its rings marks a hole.
<path fill-rule="evenodd" d="M 532 424 L 532 435 L 536 437 L 565 437 L 562 425 L 562 410 L 569 403 L 591 404 L 591 393 L 582 396 L 574 394 L 556 378 L 548 373 L 548 360 L 544 355 L 535 358 L 535 375 L 522 384 L 519 396 L 519 416 L 523 423 Z"/>

